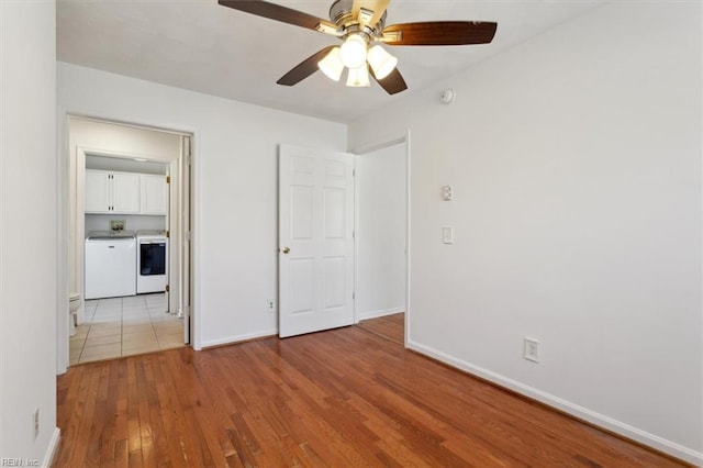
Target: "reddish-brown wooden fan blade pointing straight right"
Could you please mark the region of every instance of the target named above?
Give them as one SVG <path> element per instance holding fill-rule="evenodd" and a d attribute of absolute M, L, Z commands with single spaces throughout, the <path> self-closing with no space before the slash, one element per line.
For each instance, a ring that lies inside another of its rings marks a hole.
<path fill-rule="evenodd" d="M 391 24 L 381 35 L 388 45 L 488 44 L 496 27 L 495 23 L 481 21 L 429 21 Z"/>

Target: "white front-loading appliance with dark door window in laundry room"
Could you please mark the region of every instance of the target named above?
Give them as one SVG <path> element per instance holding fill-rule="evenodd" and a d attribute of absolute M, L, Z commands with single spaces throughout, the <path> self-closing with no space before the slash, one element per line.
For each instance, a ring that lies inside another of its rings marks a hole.
<path fill-rule="evenodd" d="M 136 244 L 136 293 L 166 291 L 168 283 L 166 231 L 137 231 Z"/>

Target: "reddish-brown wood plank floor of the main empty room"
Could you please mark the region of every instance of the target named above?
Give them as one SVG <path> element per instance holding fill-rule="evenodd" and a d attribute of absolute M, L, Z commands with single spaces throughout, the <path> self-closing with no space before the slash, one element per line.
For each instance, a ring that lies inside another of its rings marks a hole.
<path fill-rule="evenodd" d="M 359 327 L 77 366 L 55 467 L 673 467 Z"/>

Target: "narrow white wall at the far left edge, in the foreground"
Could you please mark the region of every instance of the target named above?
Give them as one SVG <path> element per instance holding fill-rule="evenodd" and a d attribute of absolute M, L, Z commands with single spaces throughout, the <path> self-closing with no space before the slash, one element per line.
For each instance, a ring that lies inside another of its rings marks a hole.
<path fill-rule="evenodd" d="M 58 442 L 55 14 L 0 2 L 0 458 L 42 466 Z"/>

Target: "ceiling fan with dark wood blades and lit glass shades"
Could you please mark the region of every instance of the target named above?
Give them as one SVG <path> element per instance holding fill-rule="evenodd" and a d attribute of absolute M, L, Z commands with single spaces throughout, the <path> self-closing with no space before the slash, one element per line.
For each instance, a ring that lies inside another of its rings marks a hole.
<path fill-rule="evenodd" d="M 467 45 L 487 44 L 495 35 L 496 24 L 479 21 L 429 21 L 386 26 L 386 9 L 390 0 L 335 0 L 330 19 L 323 20 L 264 0 L 219 0 L 223 7 L 283 23 L 330 34 L 343 41 L 305 58 L 283 75 L 278 85 L 293 86 L 322 70 L 338 81 L 347 71 L 347 86 L 370 86 L 369 75 L 389 94 L 408 89 L 395 65 L 398 59 L 386 52 L 386 45 Z"/>

